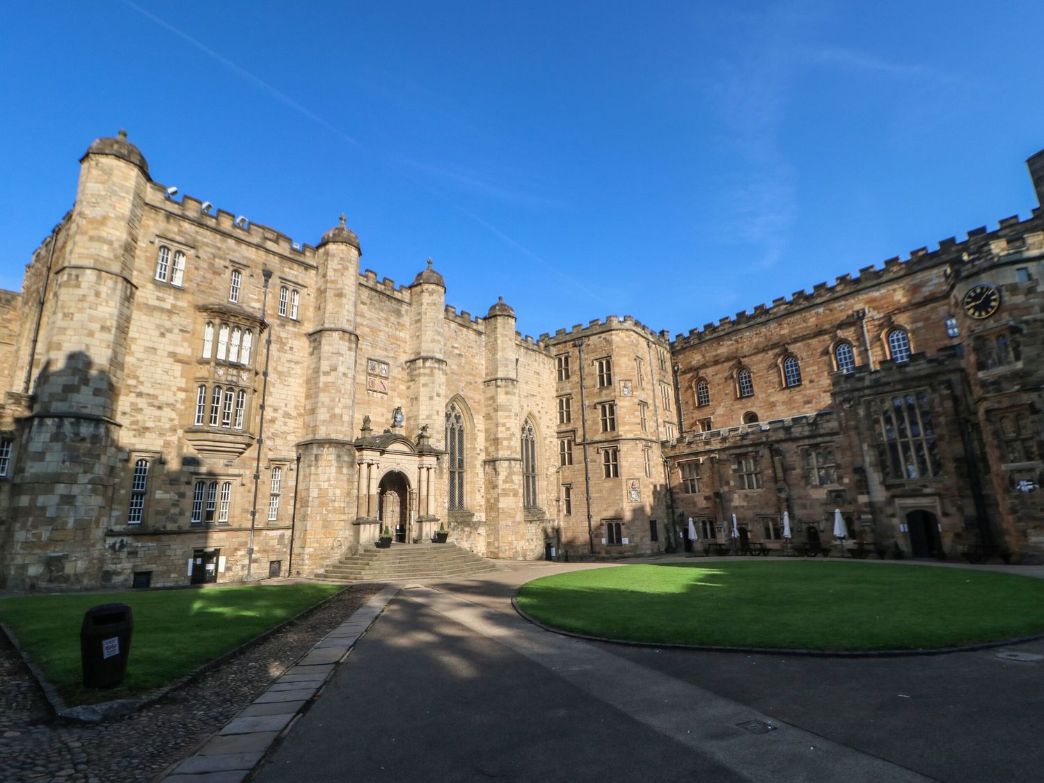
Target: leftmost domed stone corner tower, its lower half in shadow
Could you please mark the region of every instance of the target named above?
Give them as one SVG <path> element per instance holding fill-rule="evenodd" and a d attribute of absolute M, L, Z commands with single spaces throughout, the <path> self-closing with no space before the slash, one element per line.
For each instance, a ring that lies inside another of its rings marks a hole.
<path fill-rule="evenodd" d="M 132 282 L 148 164 L 120 132 L 80 159 L 76 206 L 54 259 L 32 412 L 15 477 L 8 586 L 99 583 L 115 482 Z M 124 457 L 125 459 L 125 457 Z"/>

